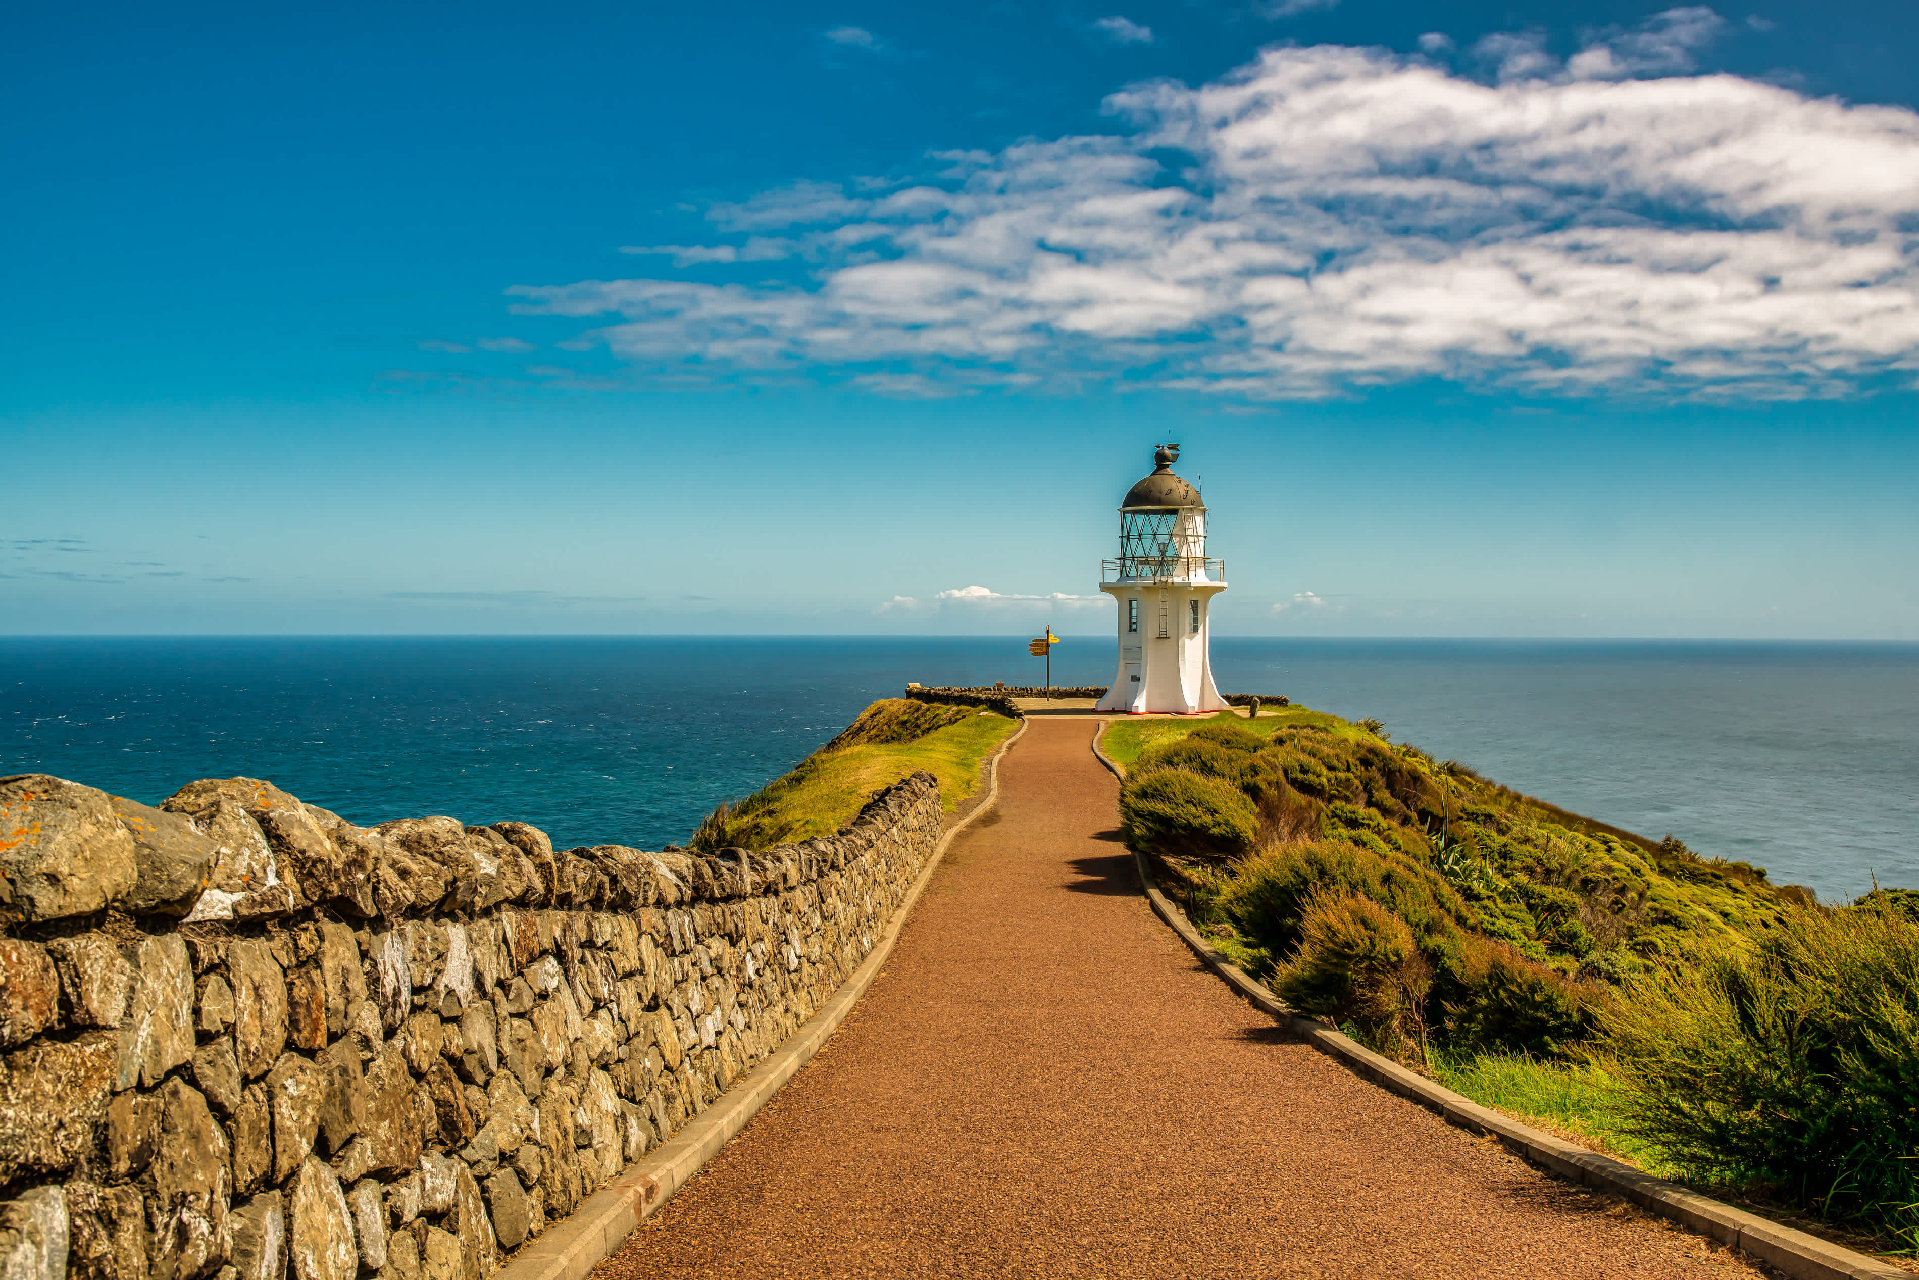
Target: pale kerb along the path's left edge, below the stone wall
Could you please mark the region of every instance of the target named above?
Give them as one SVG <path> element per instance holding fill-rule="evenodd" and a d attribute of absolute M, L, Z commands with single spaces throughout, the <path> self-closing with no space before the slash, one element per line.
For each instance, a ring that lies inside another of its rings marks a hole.
<path fill-rule="evenodd" d="M 846 1015 L 852 1013 L 852 1006 L 860 1002 L 860 996 L 879 977 L 887 956 L 892 954 L 892 944 L 900 936 L 900 927 L 912 913 L 927 881 L 933 879 L 933 871 L 940 865 L 940 858 L 946 856 L 946 848 L 954 837 L 965 831 L 1000 798 L 1000 760 L 1025 731 L 1027 722 L 1021 720 L 1019 727 L 988 756 L 986 796 L 973 806 L 971 814 L 940 837 L 940 842 L 933 848 L 933 856 L 927 858 L 927 865 L 919 869 L 913 887 L 906 890 L 906 898 L 900 900 L 892 919 L 881 931 L 879 942 L 873 944 L 867 958 L 860 961 L 852 977 L 841 983 L 839 990 L 827 998 L 819 1011 L 800 1023 L 800 1029 L 787 1036 L 766 1061 L 735 1080 L 731 1088 L 714 1100 L 714 1105 L 687 1121 L 672 1140 L 662 1142 L 651 1155 L 635 1161 L 610 1184 L 587 1196 L 572 1215 L 549 1226 L 526 1249 L 493 1272 L 491 1280 L 585 1280 L 593 1267 L 610 1257 L 635 1226 L 652 1217 L 674 1192 L 687 1184 L 687 1178 L 718 1155 L 720 1148 L 739 1134 L 746 1126 L 746 1121 L 779 1092 L 779 1086 L 791 1080 L 819 1052 L 819 1046 L 839 1031 Z"/>

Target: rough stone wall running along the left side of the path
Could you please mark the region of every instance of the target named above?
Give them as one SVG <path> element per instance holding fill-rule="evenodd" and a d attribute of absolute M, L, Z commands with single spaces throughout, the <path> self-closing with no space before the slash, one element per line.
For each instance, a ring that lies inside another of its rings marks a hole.
<path fill-rule="evenodd" d="M 865 958 L 913 773 L 766 854 L 0 779 L 0 1280 L 480 1280 Z"/>

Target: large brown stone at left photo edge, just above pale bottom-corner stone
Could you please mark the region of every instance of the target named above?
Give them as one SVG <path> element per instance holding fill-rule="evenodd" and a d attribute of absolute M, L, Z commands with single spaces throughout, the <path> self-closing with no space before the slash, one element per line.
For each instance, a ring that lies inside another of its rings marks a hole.
<path fill-rule="evenodd" d="M 96 1031 L 0 1059 L 0 1180 L 63 1173 L 92 1150 L 117 1057 L 115 1032 Z"/>

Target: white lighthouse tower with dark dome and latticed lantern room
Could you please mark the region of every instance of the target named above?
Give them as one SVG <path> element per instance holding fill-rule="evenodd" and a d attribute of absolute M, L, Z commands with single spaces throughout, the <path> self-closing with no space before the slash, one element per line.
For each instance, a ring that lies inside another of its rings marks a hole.
<path fill-rule="evenodd" d="M 1119 603 L 1119 674 L 1102 712 L 1224 710 L 1213 683 L 1207 606 L 1226 589 L 1226 562 L 1205 558 L 1205 503 L 1173 474 L 1178 445 L 1153 451 L 1153 474 L 1119 505 L 1119 558 L 1100 589 Z"/>

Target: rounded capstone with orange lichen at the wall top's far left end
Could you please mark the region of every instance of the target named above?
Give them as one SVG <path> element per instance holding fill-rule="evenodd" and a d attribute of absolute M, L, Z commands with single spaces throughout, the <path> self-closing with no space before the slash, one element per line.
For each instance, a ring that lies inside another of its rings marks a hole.
<path fill-rule="evenodd" d="M 86 915 L 132 881 L 132 837 L 107 793 L 48 773 L 0 777 L 0 919 Z"/>

